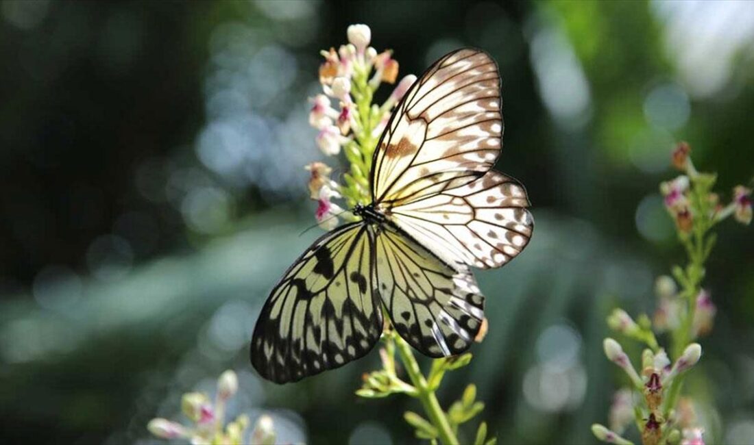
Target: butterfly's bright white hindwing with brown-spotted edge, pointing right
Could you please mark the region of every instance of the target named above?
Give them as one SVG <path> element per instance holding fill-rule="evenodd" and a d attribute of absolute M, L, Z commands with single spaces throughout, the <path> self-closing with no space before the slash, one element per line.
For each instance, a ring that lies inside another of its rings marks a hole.
<path fill-rule="evenodd" d="M 391 209 L 391 221 L 446 261 L 501 267 L 523 251 L 534 230 L 523 185 L 490 170 L 461 187 Z"/>

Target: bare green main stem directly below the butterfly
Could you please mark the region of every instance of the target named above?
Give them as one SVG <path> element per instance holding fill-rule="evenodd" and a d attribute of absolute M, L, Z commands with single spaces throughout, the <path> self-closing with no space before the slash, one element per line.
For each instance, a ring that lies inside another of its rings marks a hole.
<path fill-rule="evenodd" d="M 450 422 L 448 422 L 443 408 L 440 407 L 440 402 L 437 401 L 434 389 L 430 389 L 427 379 L 421 373 L 411 346 L 400 335 L 393 335 L 393 338 L 398 349 L 398 355 L 400 355 L 400 360 L 403 361 L 403 367 L 406 367 L 406 373 L 409 374 L 411 383 L 417 389 L 418 394 L 416 397 L 421 401 L 421 405 L 424 407 L 432 425 L 437 428 L 440 434 L 440 442 L 444 445 L 457 445 L 458 437 L 455 437 L 450 427 Z"/>

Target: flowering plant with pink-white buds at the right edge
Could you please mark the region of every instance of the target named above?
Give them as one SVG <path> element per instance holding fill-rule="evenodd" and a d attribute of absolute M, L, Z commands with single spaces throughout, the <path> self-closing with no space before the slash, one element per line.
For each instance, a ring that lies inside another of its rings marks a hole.
<path fill-rule="evenodd" d="M 657 309 L 652 319 L 640 315 L 634 321 L 623 309 L 615 309 L 608 316 L 613 331 L 646 346 L 641 371 L 637 372 L 618 341 L 612 338 L 604 341 L 605 355 L 630 379 L 630 386 L 615 393 L 610 428 L 592 425 L 594 435 L 608 443 L 630 444 L 621 434 L 631 422 L 636 423 L 645 445 L 704 443 L 693 398 L 681 396 L 685 372 L 697 364 L 702 354 L 699 343 L 692 342 L 712 330 L 716 312 L 709 291 L 701 287 L 704 264 L 715 246 L 713 229 L 731 215 L 741 224 L 750 224 L 752 202 L 751 190 L 739 185 L 733 190 L 731 202 L 722 206 L 719 195 L 713 192 L 716 175 L 697 172 L 690 153 L 691 148 L 685 142 L 675 148 L 673 166 L 685 174 L 660 186 L 667 211 L 676 223 L 679 242 L 688 255 L 688 264 L 674 266 L 673 277 L 657 278 Z M 670 356 L 657 341 L 657 335 L 666 333 Z"/>

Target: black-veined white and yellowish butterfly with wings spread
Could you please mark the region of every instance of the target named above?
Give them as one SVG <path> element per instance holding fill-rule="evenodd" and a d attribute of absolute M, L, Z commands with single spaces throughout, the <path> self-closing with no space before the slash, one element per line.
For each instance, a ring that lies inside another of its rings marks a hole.
<path fill-rule="evenodd" d="M 366 355 L 385 315 L 430 357 L 474 342 L 484 297 L 470 267 L 507 264 L 534 228 L 523 185 L 492 170 L 500 84 L 495 61 L 468 48 L 414 82 L 375 149 L 372 203 L 317 239 L 263 306 L 250 349 L 262 377 L 296 382 Z"/>

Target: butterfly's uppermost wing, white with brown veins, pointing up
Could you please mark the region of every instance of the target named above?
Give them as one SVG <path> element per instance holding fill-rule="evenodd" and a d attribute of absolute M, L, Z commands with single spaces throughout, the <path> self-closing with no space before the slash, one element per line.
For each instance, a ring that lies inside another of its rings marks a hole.
<path fill-rule="evenodd" d="M 500 75 L 480 50 L 431 66 L 391 117 L 372 157 L 372 198 L 400 205 L 487 172 L 501 149 Z"/>

